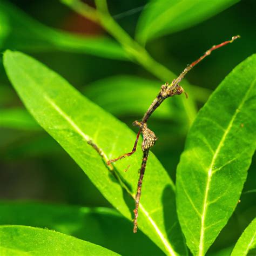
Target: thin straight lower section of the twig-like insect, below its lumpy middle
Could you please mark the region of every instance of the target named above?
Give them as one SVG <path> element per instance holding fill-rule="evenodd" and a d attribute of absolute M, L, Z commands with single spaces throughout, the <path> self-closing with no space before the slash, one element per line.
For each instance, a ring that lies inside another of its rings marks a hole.
<path fill-rule="evenodd" d="M 143 151 L 143 159 L 142 159 L 142 166 L 140 167 L 140 175 L 139 175 L 139 181 L 137 186 L 137 193 L 135 197 L 135 209 L 134 209 L 134 220 L 133 220 L 133 233 L 137 232 L 138 227 L 138 208 L 139 208 L 139 199 L 140 195 L 142 194 L 142 181 L 146 169 L 147 164 L 147 157 L 149 156 L 149 150 Z"/>

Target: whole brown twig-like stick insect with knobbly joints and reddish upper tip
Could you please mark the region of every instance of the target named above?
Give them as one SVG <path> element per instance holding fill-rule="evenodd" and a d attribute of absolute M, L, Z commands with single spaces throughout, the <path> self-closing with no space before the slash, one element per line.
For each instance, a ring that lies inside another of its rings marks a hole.
<path fill-rule="evenodd" d="M 206 56 L 210 55 L 212 51 L 226 45 L 229 43 L 232 43 L 235 39 L 240 38 L 240 36 L 233 36 L 230 41 L 225 41 L 221 44 L 218 45 L 213 45 L 212 48 L 207 50 L 203 56 L 201 56 L 199 59 L 195 60 L 192 62 L 190 65 L 188 65 L 183 72 L 180 73 L 180 75 L 172 81 L 171 84 L 165 83 L 164 85 L 161 85 L 160 92 L 158 93 L 157 97 L 153 100 L 152 104 L 150 105 L 149 109 L 146 111 L 144 114 L 143 118 L 141 121 L 134 121 L 133 125 L 139 127 L 139 131 L 133 146 L 133 149 L 129 153 L 122 154 L 122 156 L 119 156 L 118 158 L 111 159 L 107 161 L 107 165 L 110 165 L 111 163 L 120 160 L 125 157 L 131 156 L 134 152 L 136 152 L 137 149 L 137 143 L 138 139 L 140 136 L 140 133 L 142 133 L 143 136 L 143 142 L 142 142 L 142 151 L 143 151 L 143 159 L 142 159 L 142 165 L 140 167 L 140 175 L 139 175 L 139 181 L 138 181 L 138 186 L 137 186 L 137 193 L 136 197 L 134 198 L 135 200 L 135 209 L 134 209 L 134 220 L 133 220 L 133 233 L 137 232 L 138 228 L 138 208 L 139 208 L 139 200 L 140 196 L 142 193 L 142 181 L 146 169 L 146 164 L 147 164 L 147 158 L 149 156 L 149 150 L 151 149 L 152 146 L 156 143 L 157 137 L 154 134 L 153 131 L 151 131 L 147 127 L 147 120 L 150 118 L 151 114 L 157 109 L 157 107 L 160 106 L 160 104 L 169 97 L 173 97 L 174 95 L 180 95 L 181 93 L 184 92 L 183 87 L 179 85 L 181 80 L 185 77 L 188 71 L 190 71 L 195 65 L 197 65 L 201 60 L 203 60 Z M 185 92 L 186 95 L 186 92 Z M 186 95 L 187 97 L 187 95 Z"/>

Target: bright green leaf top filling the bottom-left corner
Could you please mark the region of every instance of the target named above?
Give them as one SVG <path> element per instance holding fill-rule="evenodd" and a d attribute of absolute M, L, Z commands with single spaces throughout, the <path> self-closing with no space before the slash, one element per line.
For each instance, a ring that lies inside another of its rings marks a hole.
<path fill-rule="evenodd" d="M 0 254 L 119 255 L 70 235 L 28 226 L 0 226 Z"/>

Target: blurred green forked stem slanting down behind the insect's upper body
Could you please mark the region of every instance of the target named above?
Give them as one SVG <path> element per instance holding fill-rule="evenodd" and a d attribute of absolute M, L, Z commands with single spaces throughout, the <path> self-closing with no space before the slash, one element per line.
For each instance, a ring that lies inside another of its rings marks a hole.
<path fill-rule="evenodd" d="M 152 75 L 156 76 L 161 81 L 166 82 L 177 78 L 172 71 L 154 60 L 145 50 L 145 48 L 134 41 L 134 39 L 131 38 L 130 35 L 128 35 L 116 21 L 114 21 L 107 10 L 105 0 L 95 0 L 97 10 L 91 8 L 85 3 L 80 2 L 80 0 L 60 1 L 78 12 L 80 15 L 99 23 L 123 46 L 127 55 L 133 62 L 137 62 L 142 65 L 147 71 L 152 73 Z M 189 127 L 197 113 L 194 102 L 191 98 L 186 99 L 185 97 L 179 97 L 178 100 L 181 100 L 181 103 L 183 104 Z"/>

